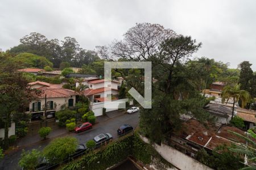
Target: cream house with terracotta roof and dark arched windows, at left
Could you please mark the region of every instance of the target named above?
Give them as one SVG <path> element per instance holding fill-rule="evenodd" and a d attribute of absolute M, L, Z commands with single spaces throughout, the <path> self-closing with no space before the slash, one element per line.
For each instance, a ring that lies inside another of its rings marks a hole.
<path fill-rule="evenodd" d="M 42 91 L 38 100 L 32 101 L 27 109 L 26 113 L 32 114 L 32 120 L 44 116 L 55 117 L 56 111 L 60 111 L 64 107 L 75 107 L 76 95 L 78 95 L 75 91 L 62 88 L 61 84 L 40 81 L 29 84 L 31 88 Z M 45 105 L 47 107 L 46 115 L 44 115 Z"/>

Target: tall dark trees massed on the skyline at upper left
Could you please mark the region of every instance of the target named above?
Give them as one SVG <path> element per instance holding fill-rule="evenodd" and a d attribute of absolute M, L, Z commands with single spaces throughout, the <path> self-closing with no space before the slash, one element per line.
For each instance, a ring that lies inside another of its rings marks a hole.
<path fill-rule="evenodd" d="M 82 49 L 73 37 L 64 37 L 63 41 L 57 39 L 48 40 L 46 36 L 31 32 L 20 39 L 20 44 L 10 49 L 11 54 L 33 53 L 44 56 L 53 63 L 55 68 L 71 66 L 81 67 L 99 59 L 97 54 L 90 50 Z M 64 62 L 60 65 L 61 62 Z M 70 66 L 70 65 L 69 65 Z M 42 67 L 43 68 L 43 67 Z"/>

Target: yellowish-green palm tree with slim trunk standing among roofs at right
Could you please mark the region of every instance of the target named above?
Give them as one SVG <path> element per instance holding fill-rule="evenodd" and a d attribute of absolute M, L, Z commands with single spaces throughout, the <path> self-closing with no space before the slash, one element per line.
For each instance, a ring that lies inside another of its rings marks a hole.
<path fill-rule="evenodd" d="M 234 104 L 237 103 L 237 101 L 242 101 L 242 108 L 245 107 L 245 105 L 250 100 L 250 94 L 249 92 L 245 90 L 240 90 L 241 84 L 235 84 L 234 86 L 226 86 L 224 87 L 223 91 L 221 92 L 222 97 L 222 103 L 228 103 L 229 99 L 233 99 L 233 109 L 232 109 L 232 118 L 234 116 Z"/>

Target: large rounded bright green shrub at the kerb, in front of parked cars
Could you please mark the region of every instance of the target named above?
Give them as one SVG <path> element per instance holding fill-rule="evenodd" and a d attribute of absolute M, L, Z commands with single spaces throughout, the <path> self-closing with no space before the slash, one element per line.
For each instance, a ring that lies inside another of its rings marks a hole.
<path fill-rule="evenodd" d="M 50 163 L 60 163 L 76 151 L 77 144 L 74 137 L 57 138 L 44 148 L 43 154 Z"/>

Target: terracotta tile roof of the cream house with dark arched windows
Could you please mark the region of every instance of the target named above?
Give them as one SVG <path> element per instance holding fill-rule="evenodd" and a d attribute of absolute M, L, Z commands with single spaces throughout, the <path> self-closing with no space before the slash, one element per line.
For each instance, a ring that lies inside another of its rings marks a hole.
<path fill-rule="evenodd" d="M 40 94 L 39 99 L 42 99 L 47 96 L 47 98 L 54 98 L 54 97 L 69 97 L 73 95 L 77 95 L 77 93 L 73 90 L 65 89 L 61 87 L 61 84 L 50 84 L 46 82 L 32 82 L 29 83 L 30 86 L 34 84 L 41 84 L 42 87 L 37 88 L 38 90 L 41 90 L 42 93 Z"/>

